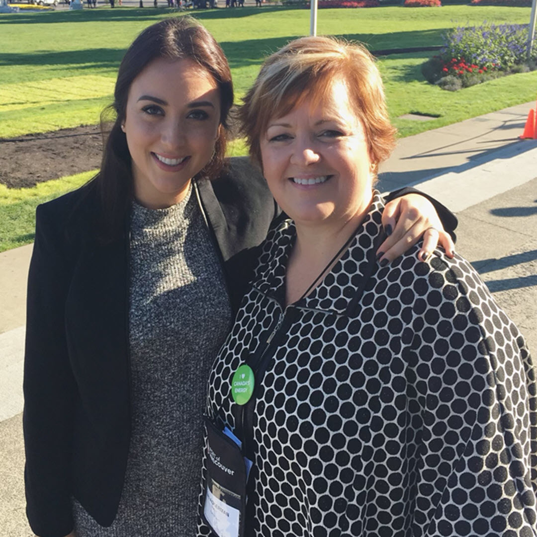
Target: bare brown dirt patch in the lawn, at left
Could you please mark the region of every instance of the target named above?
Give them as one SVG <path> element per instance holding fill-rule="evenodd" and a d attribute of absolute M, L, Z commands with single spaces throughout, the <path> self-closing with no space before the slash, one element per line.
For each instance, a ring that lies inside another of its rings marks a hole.
<path fill-rule="evenodd" d="M 95 170 L 103 143 L 97 125 L 0 138 L 0 183 L 31 187 L 50 179 Z"/>

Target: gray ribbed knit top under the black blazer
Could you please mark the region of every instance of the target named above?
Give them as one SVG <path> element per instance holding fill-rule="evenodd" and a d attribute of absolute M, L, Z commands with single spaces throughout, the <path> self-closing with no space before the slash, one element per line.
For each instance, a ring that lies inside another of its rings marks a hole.
<path fill-rule="evenodd" d="M 231 309 L 196 198 L 168 209 L 133 204 L 130 248 L 132 437 L 112 526 L 76 501 L 78 537 L 196 533 L 207 373 Z"/>

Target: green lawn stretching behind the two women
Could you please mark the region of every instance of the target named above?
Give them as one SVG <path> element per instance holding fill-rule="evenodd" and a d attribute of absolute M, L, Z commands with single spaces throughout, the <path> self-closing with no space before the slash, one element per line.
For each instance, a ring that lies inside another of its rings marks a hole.
<path fill-rule="evenodd" d="M 194 11 L 230 60 L 240 98 L 264 56 L 309 32 L 304 9 L 277 6 Z M 96 124 L 112 97 L 114 78 L 128 43 L 146 26 L 175 14 L 166 9 L 99 8 L 82 11 L 0 14 L 0 137 Z M 343 35 L 371 50 L 440 44 L 445 28 L 484 20 L 527 23 L 529 8 L 445 6 L 410 9 L 321 10 L 318 33 Z M 42 43 L 39 47 L 35 43 Z M 44 44 L 43 44 L 44 43 Z M 429 53 L 399 54 L 380 62 L 393 123 L 401 136 L 440 127 L 535 98 L 537 72 L 499 78 L 450 93 L 427 84 L 420 65 Z M 398 119 L 409 112 L 438 114 L 427 122 Z M 244 154 L 241 141 L 233 154 Z M 82 184 L 85 173 L 8 190 L 0 185 L 0 251 L 33 238 L 34 209 Z"/>

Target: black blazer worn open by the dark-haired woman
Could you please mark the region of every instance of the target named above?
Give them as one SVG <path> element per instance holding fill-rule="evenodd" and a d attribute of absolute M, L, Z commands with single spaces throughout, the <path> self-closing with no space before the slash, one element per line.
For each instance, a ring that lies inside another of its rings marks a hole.
<path fill-rule="evenodd" d="M 214 182 L 197 182 L 195 194 L 236 311 L 278 208 L 245 159 L 232 159 Z M 99 524 L 111 525 L 124 483 L 131 434 L 128 226 L 103 243 L 99 207 L 90 183 L 37 209 L 23 424 L 26 512 L 41 537 L 72 531 L 73 496 Z M 436 207 L 453 228 L 453 215 Z"/>

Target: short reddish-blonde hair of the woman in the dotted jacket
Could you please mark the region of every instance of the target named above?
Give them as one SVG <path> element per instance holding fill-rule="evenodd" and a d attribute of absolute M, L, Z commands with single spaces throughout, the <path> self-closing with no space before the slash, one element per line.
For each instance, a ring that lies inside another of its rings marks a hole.
<path fill-rule="evenodd" d="M 345 81 L 350 103 L 366 133 L 371 161 L 384 161 L 395 146 L 384 86 L 374 57 L 362 45 L 333 37 L 291 41 L 263 63 L 239 108 L 250 156 L 261 163 L 260 137 L 271 118 L 289 113 L 305 98 L 322 99 L 334 79 Z"/>

